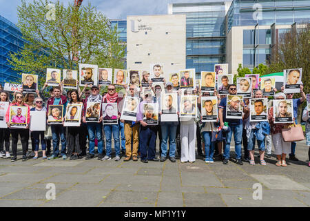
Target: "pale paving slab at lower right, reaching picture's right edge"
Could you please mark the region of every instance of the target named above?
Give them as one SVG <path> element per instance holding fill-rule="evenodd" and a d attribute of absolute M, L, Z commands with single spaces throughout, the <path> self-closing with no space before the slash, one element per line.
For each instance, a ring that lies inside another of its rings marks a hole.
<path fill-rule="evenodd" d="M 285 177 L 283 175 L 256 175 L 252 174 L 256 180 L 267 186 L 269 189 L 289 189 L 289 190 L 300 190 L 310 191 L 306 186 L 302 186 L 297 182 Z"/>

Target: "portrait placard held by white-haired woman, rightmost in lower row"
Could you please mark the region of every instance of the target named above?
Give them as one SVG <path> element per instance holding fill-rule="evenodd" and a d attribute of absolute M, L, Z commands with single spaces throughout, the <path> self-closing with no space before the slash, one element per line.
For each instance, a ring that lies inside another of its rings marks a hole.
<path fill-rule="evenodd" d="M 293 100 L 273 100 L 274 123 L 293 123 Z"/>

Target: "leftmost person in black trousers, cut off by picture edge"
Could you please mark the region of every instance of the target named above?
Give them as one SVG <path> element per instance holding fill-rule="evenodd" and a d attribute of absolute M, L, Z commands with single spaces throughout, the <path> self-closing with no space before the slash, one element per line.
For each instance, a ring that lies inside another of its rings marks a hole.
<path fill-rule="evenodd" d="M 1 112 L 1 121 L 6 125 L 6 111 L 8 111 L 8 106 L 10 104 L 8 93 L 1 91 L 0 93 L 0 112 Z M 3 142 L 6 147 L 6 151 L 3 150 Z M 0 158 L 4 157 L 5 159 L 10 158 L 10 128 L 0 128 Z"/>

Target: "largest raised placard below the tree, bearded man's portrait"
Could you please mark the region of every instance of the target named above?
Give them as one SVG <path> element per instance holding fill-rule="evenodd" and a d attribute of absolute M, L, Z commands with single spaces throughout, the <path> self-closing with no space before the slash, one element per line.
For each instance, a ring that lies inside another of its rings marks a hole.
<path fill-rule="evenodd" d="M 98 66 L 92 64 L 79 64 L 80 86 L 85 84 L 98 84 Z"/>

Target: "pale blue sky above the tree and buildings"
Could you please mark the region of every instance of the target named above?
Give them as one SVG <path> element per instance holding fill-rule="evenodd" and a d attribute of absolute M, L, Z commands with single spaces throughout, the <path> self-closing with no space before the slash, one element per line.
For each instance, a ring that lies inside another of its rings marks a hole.
<path fill-rule="evenodd" d="M 32 0 L 25 0 L 32 2 Z M 54 1 L 54 0 L 52 0 Z M 126 19 L 128 15 L 165 15 L 168 3 L 208 2 L 220 0 L 83 0 L 83 5 L 89 2 L 97 10 L 103 12 L 108 19 Z M 74 3 L 74 0 L 60 0 L 65 6 Z M 17 6 L 21 0 L 0 0 L 0 15 L 17 23 Z"/>

